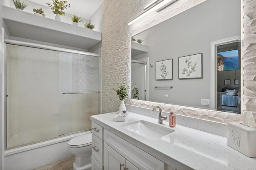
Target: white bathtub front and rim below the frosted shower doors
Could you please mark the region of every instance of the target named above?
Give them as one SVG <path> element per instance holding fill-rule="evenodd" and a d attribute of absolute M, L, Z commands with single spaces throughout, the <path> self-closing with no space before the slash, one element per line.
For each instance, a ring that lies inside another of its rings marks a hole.
<path fill-rule="evenodd" d="M 71 134 L 4 152 L 5 170 L 32 170 L 74 156 L 68 151 L 68 140 L 91 131 Z"/>

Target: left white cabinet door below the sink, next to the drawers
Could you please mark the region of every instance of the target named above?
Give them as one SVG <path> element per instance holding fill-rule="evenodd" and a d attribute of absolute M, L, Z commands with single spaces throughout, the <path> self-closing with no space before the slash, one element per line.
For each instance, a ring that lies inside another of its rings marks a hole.
<path fill-rule="evenodd" d="M 124 170 L 125 158 L 104 144 L 104 170 Z"/>

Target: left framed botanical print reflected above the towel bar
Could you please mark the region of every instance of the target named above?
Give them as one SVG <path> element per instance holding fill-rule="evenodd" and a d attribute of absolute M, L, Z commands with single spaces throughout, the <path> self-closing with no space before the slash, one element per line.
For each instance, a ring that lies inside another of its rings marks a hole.
<path fill-rule="evenodd" d="M 156 61 L 156 80 L 172 80 L 173 59 Z"/>

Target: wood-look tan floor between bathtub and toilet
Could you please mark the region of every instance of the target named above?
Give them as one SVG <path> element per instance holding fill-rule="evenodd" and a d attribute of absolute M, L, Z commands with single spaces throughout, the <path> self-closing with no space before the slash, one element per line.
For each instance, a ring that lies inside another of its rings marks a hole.
<path fill-rule="evenodd" d="M 67 158 L 65 160 L 59 160 L 49 165 L 36 168 L 34 170 L 73 170 L 73 163 L 75 161 L 75 156 Z"/>

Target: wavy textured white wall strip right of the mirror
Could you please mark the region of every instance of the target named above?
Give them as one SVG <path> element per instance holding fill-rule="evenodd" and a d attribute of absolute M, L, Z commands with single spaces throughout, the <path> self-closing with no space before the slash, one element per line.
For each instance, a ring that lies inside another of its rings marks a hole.
<path fill-rule="evenodd" d="M 256 0 L 244 0 L 244 111 L 256 117 Z"/>

